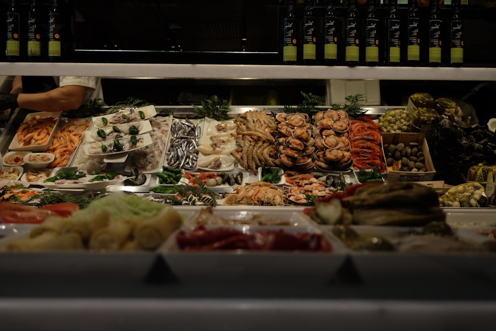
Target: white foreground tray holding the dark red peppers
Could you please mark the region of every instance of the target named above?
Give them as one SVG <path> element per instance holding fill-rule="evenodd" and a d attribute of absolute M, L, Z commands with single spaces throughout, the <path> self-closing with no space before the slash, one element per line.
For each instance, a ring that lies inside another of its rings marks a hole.
<path fill-rule="evenodd" d="M 281 213 L 283 215 L 283 213 Z M 250 227 L 242 227 L 250 229 Z M 312 226 L 262 227 L 282 228 L 292 233 L 318 233 Z M 251 227 L 260 229 L 260 227 Z M 296 252 L 247 250 L 194 251 L 178 248 L 172 234 L 159 250 L 181 282 L 236 283 L 327 283 L 346 260 L 346 249 L 333 236 L 325 234 L 333 252 Z"/>

